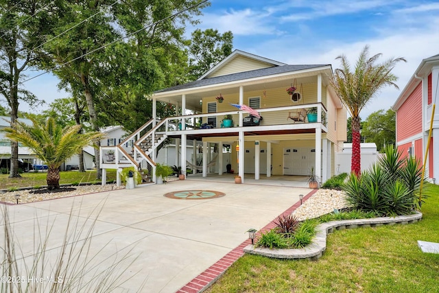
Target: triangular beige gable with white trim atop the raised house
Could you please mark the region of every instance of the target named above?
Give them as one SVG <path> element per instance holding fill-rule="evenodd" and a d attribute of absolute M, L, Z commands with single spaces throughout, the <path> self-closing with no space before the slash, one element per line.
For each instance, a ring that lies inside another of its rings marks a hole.
<path fill-rule="evenodd" d="M 244 51 L 235 50 L 232 54 L 224 58 L 224 60 L 204 73 L 204 75 L 198 78 L 198 80 L 276 67 L 280 65 L 285 65 L 285 63 L 263 58 L 261 56 L 253 55 Z"/>

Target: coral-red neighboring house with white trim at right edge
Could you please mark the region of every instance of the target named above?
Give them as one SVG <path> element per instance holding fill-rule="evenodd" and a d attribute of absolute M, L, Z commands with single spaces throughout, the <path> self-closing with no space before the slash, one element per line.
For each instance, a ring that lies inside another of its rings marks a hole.
<path fill-rule="evenodd" d="M 420 62 L 418 69 L 392 106 L 396 112 L 396 145 L 405 156 L 415 156 L 421 163 L 429 137 L 431 112 L 439 96 L 439 54 Z M 433 117 L 425 176 L 439 176 L 439 114 Z"/>

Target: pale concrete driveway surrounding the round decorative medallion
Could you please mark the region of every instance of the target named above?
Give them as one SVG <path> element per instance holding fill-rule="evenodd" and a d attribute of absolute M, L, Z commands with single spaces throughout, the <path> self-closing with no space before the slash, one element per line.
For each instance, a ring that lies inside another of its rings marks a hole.
<path fill-rule="evenodd" d="M 213 190 L 226 196 L 204 200 L 178 200 L 163 194 L 183 190 Z M 259 230 L 298 202 L 310 189 L 178 180 L 99 194 L 47 200 L 9 207 L 10 221 L 23 254 L 33 254 L 34 227 L 52 228 L 47 249 L 56 251 L 64 237 L 69 214 L 71 223 L 93 230 L 90 255 L 108 266 L 106 257 L 132 249 L 135 259 L 123 273 L 132 277 L 123 292 L 176 292 L 213 263 L 248 239 L 249 228 Z M 99 215 L 98 210 L 101 209 Z M 3 224 L 3 222 L 2 222 Z M 4 237 L 3 228 L 0 237 Z M 136 274 L 137 273 L 137 274 Z M 23 272 L 23 274 L 25 274 Z M 143 286 L 142 289 L 139 289 Z"/>

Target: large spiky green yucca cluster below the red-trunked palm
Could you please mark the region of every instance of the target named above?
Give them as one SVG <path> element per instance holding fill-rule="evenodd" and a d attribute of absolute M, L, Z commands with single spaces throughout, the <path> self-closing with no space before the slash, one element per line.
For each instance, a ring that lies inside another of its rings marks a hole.
<path fill-rule="evenodd" d="M 403 159 L 402 152 L 390 145 L 385 156 L 359 178 L 351 174 L 344 191 L 354 209 L 377 215 L 407 215 L 419 207 L 421 180 L 420 163 L 414 158 Z"/>

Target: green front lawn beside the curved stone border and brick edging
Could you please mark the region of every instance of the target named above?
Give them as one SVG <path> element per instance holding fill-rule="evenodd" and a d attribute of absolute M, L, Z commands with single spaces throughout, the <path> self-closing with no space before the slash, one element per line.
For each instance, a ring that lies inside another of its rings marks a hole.
<path fill-rule="evenodd" d="M 335 231 L 318 261 L 244 255 L 208 292 L 439 292 L 439 187 L 429 185 L 416 224 Z"/>

